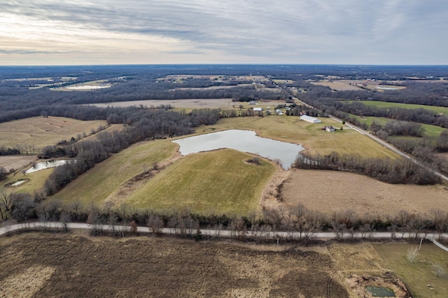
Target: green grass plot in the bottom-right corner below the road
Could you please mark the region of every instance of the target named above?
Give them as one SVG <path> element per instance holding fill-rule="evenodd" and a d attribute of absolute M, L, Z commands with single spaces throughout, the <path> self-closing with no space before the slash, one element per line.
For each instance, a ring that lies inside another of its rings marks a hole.
<path fill-rule="evenodd" d="M 374 245 L 389 269 L 402 278 L 413 297 L 448 297 L 448 276 L 437 277 L 433 266 L 439 264 L 448 271 L 448 252 L 434 244 L 423 244 L 416 260 L 407 260 L 407 250 L 419 244 L 389 243 Z M 435 290 L 430 290 L 432 285 Z"/>

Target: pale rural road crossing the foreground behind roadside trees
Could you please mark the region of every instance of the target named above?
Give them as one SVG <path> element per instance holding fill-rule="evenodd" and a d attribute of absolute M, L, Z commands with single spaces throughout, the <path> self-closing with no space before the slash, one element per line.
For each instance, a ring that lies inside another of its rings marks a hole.
<path fill-rule="evenodd" d="M 32 229 L 42 229 L 42 228 L 52 228 L 52 229 L 62 229 L 62 223 L 61 222 L 31 222 L 31 223 L 24 223 L 24 224 L 18 224 L 18 225 L 9 225 L 6 227 L 0 227 L 0 236 L 8 234 L 10 232 L 20 231 L 20 230 L 32 230 Z M 81 223 L 81 222 L 69 222 L 68 224 L 69 229 L 92 229 L 92 225 Z M 111 231 L 111 227 L 109 225 L 104 225 L 103 229 L 106 231 Z M 115 227 L 117 231 L 126 230 L 129 231 L 128 226 L 120 226 L 117 225 Z M 177 231 L 177 232 L 176 232 Z M 137 227 L 137 232 L 142 233 L 150 233 L 150 230 L 148 227 Z M 196 230 L 193 229 L 193 233 L 195 234 Z M 163 234 L 179 234 L 179 229 L 172 229 L 172 228 L 163 228 L 162 229 Z M 235 236 L 236 232 L 229 231 L 227 229 L 201 229 L 201 233 L 204 236 L 221 236 L 221 237 L 231 237 Z M 262 238 L 267 239 L 279 239 L 279 238 L 295 238 L 300 239 L 300 232 L 246 232 L 246 236 L 260 236 Z M 303 237 L 304 233 L 302 233 Z M 337 233 L 335 232 L 315 232 L 311 235 L 312 239 L 336 239 Z M 343 239 L 408 239 L 408 238 L 416 238 L 416 239 L 428 239 L 433 241 L 437 246 L 440 248 L 447 250 L 448 248 L 445 248 L 440 243 L 437 243 L 434 239 L 448 239 L 448 233 L 444 234 L 436 234 L 436 233 L 419 233 L 415 234 L 413 232 L 344 232 L 339 233 L 339 238 Z"/>

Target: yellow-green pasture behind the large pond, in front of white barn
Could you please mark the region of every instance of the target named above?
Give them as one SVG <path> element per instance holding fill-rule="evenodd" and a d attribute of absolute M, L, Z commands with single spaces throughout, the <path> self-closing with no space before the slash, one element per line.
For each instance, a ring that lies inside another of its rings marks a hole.
<path fill-rule="evenodd" d="M 209 132 L 210 129 L 248 129 L 254 130 L 259 136 L 288 143 L 302 144 L 312 153 L 329 154 L 332 151 L 339 154 L 357 154 L 365 157 L 392 157 L 397 155 L 386 150 L 367 136 L 363 136 L 342 123 L 330 118 L 319 118 L 321 123 L 309 123 L 295 116 L 270 115 L 267 117 L 237 117 L 224 118 L 216 125 L 204 126 L 197 133 Z M 325 132 L 321 128 L 333 125 L 336 132 Z M 340 127 L 344 127 L 342 131 Z"/>

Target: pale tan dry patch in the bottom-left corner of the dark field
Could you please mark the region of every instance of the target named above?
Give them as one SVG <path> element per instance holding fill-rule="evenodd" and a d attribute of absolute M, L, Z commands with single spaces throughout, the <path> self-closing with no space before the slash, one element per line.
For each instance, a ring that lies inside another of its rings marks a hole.
<path fill-rule="evenodd" d="M 33 297 L 54 271 L 53 267 L 34 266 L 21 274 L 8 276 L 0 282 L 0 297 Z"/>

